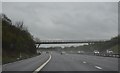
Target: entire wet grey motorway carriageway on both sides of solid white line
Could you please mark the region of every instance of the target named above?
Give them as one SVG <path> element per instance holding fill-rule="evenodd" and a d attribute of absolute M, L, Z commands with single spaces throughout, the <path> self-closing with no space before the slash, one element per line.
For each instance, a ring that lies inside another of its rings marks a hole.
<path fill-rule="evenodd" d="M 30 59 L 3 65 L 3 71 L 35 71 L 47 59 L 42 54 Z M 51 60 L 41 71 L 118 71 L 118 58 L 80 54 L 51 53 Z"/>

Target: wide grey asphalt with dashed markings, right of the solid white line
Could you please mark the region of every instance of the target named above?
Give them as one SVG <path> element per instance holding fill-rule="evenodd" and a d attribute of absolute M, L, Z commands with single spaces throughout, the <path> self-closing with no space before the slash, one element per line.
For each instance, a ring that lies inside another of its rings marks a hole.
<path fill-rule="evenodd" d="M 118 71 L 118 59 L 53 52 L 42 71 Z"/>

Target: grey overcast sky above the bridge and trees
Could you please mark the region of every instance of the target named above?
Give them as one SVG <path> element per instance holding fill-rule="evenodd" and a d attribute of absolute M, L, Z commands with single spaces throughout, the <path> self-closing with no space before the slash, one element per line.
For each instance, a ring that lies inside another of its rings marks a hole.
<path fill-rule="evenodd" d="M 2 7 L 41 40 L 100 40 L 118 34 L 117 2 L 8 2 Z"/>

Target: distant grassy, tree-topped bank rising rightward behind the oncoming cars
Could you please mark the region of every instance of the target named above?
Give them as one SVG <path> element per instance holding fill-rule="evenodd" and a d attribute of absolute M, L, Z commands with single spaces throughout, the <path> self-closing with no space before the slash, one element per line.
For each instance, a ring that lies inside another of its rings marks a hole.
<path fill-rule="evenodd" d="M 111 38 L 110 40 L 98 42 L 98 43 L 91 43 L 88 45 L 81 45 L 81 46 L 70 46 L 70 47 L 48 47 L 48 48 L 39 48 L 41 51 L 46 50 L 56 50 L 56 51 L 84 51 L 86 53 L 93 53 L 94 50 L 98 50 L 100 53 L 106 53 L 106 50 L 112 50 L 113 53 L 119 54 L 120 53 L 120 43 L 119 43 L 120 36 L 116 36 Z"/>

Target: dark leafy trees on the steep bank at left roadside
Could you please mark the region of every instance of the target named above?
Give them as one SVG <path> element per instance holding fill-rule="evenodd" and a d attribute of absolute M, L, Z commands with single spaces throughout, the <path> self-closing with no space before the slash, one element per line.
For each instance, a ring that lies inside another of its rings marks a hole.
<path fill-rule="evenodd" d="M 13 25 L 5 14 L 1 14 L 1 19 L 3 63 L 16 60 L 20 54 L 23 57 L 36 54 L 33 36 L 24 27 L 23 22 L 19 21 Z"/>

